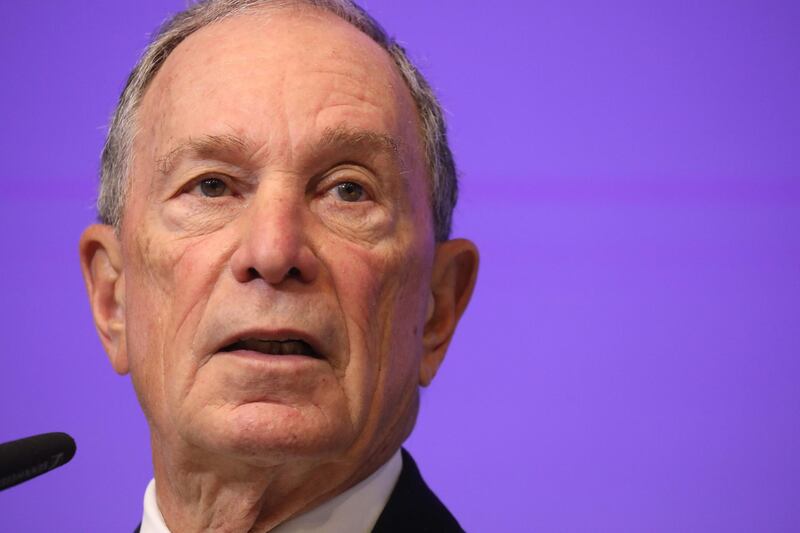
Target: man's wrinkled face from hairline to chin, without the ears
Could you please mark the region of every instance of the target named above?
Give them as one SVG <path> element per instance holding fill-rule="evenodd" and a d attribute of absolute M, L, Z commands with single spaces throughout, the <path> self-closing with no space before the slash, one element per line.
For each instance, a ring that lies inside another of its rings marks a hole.
<path fill-rule="evenodd" d="M 396 447 L 435 243 L 389 56 L 321 12 L 238 16 L 170 55 L 137 127 L 124 350 L 154 441 L 253 461 Z"/>

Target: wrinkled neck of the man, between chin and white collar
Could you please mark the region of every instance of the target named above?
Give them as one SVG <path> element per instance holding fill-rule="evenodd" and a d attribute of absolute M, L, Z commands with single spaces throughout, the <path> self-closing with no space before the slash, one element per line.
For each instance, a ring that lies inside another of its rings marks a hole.
<path fill-rule="evenodd" d="M 257 466 L 190 453 L 165 453 L 153 439 L 158 507 L 171 531 L 266 532 L 368 477 L 395 450 L 353 462 L 288 461 Z"/>

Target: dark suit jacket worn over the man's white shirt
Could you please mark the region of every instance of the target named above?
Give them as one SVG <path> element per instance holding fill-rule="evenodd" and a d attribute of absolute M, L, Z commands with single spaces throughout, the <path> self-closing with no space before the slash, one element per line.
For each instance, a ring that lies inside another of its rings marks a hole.
<path fill-rule="evenodd" d="M 402 454 L 403 470 L 372 533 L 463 533 L 447 507 L 422 479 L 411 454 L 405 450 Z M 139 533 L 139 527 L 133 533 Z"/>

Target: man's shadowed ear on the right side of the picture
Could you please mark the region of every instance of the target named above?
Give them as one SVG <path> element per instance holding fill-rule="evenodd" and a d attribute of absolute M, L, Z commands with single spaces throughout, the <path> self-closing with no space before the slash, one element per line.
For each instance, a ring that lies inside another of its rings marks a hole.
<path fill-rule="evenodd" d="M 478 249 L 466 239 L 436 245 L 428 315 L 422 335 L 424 353 L 419 383 L 428 386 L 444 360 L 456 325 L 467 308 L 478 277 Z"/>

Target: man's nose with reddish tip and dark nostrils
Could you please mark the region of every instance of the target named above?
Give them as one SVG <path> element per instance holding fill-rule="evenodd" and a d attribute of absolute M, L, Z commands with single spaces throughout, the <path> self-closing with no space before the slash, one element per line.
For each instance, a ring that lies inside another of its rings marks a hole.
<path fill-rule="evenodd" d="M 258 191 L 241 222 L 241 241 L 231 256 L 231 270 L 240 283 L 263 279 L 279 285 L 295 279 L 311 283 L 319 260 L 309 248 L 302 197 Z"/>

